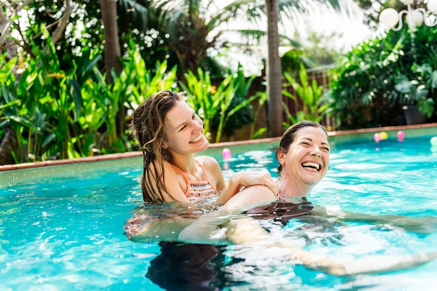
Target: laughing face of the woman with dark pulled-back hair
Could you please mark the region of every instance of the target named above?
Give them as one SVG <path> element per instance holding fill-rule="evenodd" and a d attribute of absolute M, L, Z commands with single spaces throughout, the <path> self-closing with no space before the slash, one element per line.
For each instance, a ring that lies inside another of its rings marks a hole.
<path fill-rule="evenodd" d="M 276 155 L 283 166 L 281 178 L 317 184 L 329 167 L 329 142 L 326 132 L 318 127 L 302 127 L 294 141 Z"/>

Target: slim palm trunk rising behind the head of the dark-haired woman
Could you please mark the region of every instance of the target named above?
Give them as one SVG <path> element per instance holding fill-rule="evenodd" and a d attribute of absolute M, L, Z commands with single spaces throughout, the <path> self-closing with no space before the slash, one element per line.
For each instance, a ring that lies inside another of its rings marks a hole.
<path fill-rule="evenodd" d="M 282 80 L 281 58 L 279 58 L 279 3 L 266 0 L 267 10 L 267 129 L 269 137 L 281 136 L 282 129 Z"/>

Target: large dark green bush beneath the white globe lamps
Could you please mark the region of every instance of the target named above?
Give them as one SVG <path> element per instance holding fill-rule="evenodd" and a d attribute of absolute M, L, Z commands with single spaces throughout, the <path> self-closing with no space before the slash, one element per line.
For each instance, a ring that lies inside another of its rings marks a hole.
<path fill-rule="evenodd" d="M 332 70 L 326 102 L 339 129 L 403 125 L 402 107 L 437 119 L 436 27 L 387 31 L 362 42 Z"/>

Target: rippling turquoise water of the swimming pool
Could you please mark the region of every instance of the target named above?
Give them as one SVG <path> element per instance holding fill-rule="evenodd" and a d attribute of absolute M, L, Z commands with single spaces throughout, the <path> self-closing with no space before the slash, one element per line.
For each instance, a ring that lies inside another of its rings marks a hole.
<path fill-rule="evenodd" d="M 437 217 L 437 153 L 430 138 L 333 144 L 327 176 L 309 200 L 329 211 Z M 246 168 L 267 168 L 276 175 L 269 147 L 235 152 L 221 164 L 227 177 Z M 154 282 L 171 286 L 169 281 L 184 276 L 204 286 L 184 288 L 177 281 L 168 290 L 435 288 L 437 260 L 397 272 L 338 277 L 294 265 L 272 249 L 131 242 L 123 226 L 142 205 L 140 173 L 141 164 L 133 164 L 0 189 L 0 289 L 153 291 L 163 290 Z M 390 224 L 325 221 L 319 226 L 296 219 L 277 231 L 298 246 L 336 258 L 437 251 L 436 231 L 418 234 Z M 184 253 L 200 254 L 194 271 L 177 269 L 174 259 L 184 260 Z"/>

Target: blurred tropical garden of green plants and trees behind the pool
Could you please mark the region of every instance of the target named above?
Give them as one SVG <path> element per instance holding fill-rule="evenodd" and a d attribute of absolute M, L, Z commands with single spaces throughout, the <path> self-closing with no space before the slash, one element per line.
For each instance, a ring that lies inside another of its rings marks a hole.
<path fill-rule="evenodd" d="M 0 6 L 0 164 L 135 150 L 131 113 L 163 89 L 184 92 L 211 142 L 277 136 L 304 119 L 330 130 L 405 125 L 404 106 L 436 121 L 436 28 L 381 29 L 380 10 L 405 8 L 399 1 Z M 339 29 L 313 26 L 325 13 L 372 33 L 343 43 Z M 272 31 L 278 47 L 267 52 Z"/>

